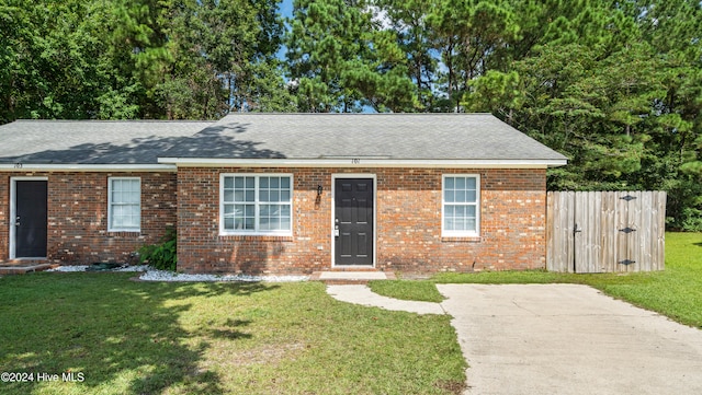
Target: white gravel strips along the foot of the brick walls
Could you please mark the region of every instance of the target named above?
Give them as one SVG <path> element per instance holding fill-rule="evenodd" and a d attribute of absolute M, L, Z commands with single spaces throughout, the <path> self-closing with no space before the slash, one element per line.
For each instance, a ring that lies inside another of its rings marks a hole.
<path fill-rule="evenodd" d="M 59 266 L 46 271 L 86 271 L 87 268 L 87 265 Z M 144 274 L 139 276 L 139 279 L 144 281 L 296 282 L 309 280 L 309 276 L 185 275 L 158 270 L 147 265 L 127 266 L 110 271 L 143 271 Z"/>

